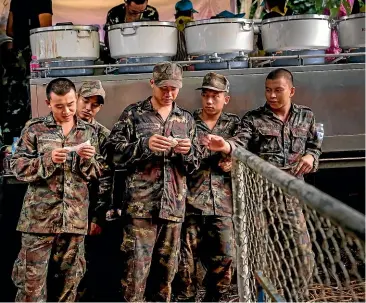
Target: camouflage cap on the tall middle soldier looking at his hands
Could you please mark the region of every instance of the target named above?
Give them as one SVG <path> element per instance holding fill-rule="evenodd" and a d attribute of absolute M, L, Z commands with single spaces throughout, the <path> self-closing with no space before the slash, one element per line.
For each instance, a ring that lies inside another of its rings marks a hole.
<path fill-rule="evenodd" d="M 161 62 L 154 66 L 153 80 L 156 86 L 182 88 L 183 69 L 173 62 Z"/>

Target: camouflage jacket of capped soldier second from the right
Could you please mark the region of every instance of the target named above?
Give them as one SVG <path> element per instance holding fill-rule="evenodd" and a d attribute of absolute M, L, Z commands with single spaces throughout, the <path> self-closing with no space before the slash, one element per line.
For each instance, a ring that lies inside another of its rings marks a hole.
<path fill-rule="evenodd" d="M 225 138 L 230 144 L 236 145 L 235 132 L 240 124 L 238 116 L 222 113 L 215 127 L 210 130 L 200 118 L 202 110 L 194 112 L 197 125 L 198 141 L 201 138 L 214 134 Z M 233 147 L 233 145 L 232 145 Z M 231 195 L 230 173 L 223 172 L 218 166 L 219 161 L 228 157 L 220 152 L 212 152 L 203 146 L 200 168 L 188 176 L 187 215 L 202 214 L 216 216 L 231 216 L 233 202 Z"/>

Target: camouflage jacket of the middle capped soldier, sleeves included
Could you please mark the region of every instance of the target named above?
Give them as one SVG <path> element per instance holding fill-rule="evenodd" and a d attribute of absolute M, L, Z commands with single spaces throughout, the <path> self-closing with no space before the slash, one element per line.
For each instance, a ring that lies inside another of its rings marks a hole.
<path fill-rule="evenodd" d="M 113 161 L 127 169 L 123 213 L 133 218 L 159 217 L 182 222 L 187 194 L 186 175 L 199 167 L 201 156 L 192 115 L 175 103 L 166 121 L 153 109 L 151 98 L 128 106 L 114 125 L 108 140 Z M 190 138 L 187 155 L 154 153 L 154 134 Z"/>

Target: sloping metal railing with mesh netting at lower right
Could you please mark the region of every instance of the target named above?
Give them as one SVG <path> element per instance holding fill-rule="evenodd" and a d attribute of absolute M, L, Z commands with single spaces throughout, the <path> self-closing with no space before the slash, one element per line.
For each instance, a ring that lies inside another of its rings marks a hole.
<path fill-rule="evenodd" d="M 232 180 L 240 302 L 365 301 L 364 215 L 242 148 Z"/>

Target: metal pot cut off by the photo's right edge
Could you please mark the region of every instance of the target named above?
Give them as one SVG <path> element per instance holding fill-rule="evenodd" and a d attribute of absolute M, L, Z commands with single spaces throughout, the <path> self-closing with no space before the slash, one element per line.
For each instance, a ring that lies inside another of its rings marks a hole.
<path fill-rule="evenodd" d="M 342 17 L 338 32 L 341 48 L 365 47 L 365 13 Z"/>

